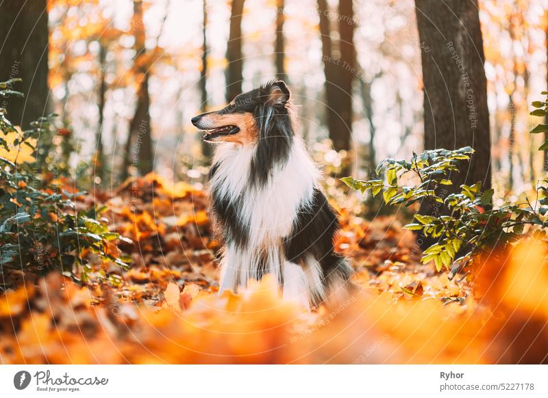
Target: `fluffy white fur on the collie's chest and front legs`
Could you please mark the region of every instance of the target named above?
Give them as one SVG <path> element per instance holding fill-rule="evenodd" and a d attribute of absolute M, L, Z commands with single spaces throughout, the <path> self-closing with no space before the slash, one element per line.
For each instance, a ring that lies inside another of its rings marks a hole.
<path fill-rule="evenodd" d="M 240 200 L 238 222 L 249 234 L 245 249 L 228 244 L 221 262 L 220 291 L 236 290 L 250 278 L 258 278 L 266 255 L 266 273 L 282 280 L 286 258 L 282 239 L 290 235 L 297 211 L 308 207 L 314 193 L 318 171 L 306 152 L 303 142 L 295 137 L 288 161 L 276 166 L 269 183 L 251 187 L 249 167 L 255 148 L 225 144 L 216 151 L 219 164 L 210 189 L 227 200 Z M 264 265 L 263 265 L 264 266 Z"/>

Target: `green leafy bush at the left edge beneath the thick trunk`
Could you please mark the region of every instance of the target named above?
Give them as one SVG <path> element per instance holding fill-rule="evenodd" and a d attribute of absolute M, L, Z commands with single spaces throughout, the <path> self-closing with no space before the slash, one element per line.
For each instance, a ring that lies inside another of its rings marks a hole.
<path fill-rule="evenodd" d="M 14 81 L 0 83 L 0 96 L 22 95 L 8 89 Z M 51 161 L 54 117 L 40 118 L 21 131 L 0 108 L 0 272 L 5 267 L 38 273 L 61 269 L 76 279 L 79 270 L 85 280 L 90 265 L 84 257 L 90 253 L 127 267 L 110 244 L 125 238 L 99 218 L 104 209 L 77 211 L 75 200 L 83 193 L 60 187 Z"/>

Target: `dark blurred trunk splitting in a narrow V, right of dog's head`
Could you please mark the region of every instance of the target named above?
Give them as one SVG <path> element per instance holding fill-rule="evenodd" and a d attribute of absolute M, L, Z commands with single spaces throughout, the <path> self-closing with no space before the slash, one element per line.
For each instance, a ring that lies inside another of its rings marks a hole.
<path fill-rule="evenodd" d="M 332 51 L 329 9 L 326 0 L 318 0 L 323 67 L 325 72 L 325 103 L 327 129 L 335 150 L 351 148 L 352 83 L 356 75 L 356 51 L 353 45 L 354 20 L 352 0 L 340 0 L 338 5 L 338 49 Z"/>

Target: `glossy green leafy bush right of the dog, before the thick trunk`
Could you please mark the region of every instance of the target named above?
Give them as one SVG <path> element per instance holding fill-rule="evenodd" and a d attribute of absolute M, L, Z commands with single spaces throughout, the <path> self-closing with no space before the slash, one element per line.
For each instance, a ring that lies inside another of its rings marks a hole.
<path fill-rule="evenodd" d="M 547 95 L 548 92 L 543 92 Z M 548 101 L 535 101 L 533 116 L 548 115 Z M 531 133 L 548 131 L 548 124 L 539 124 Z M 540 150 L 548 148 L 546 141 Z M 506 248 L 508 244 L 524 235 L 545 237 L 548 227 L 548 180 L 540 180 L 536 188 L 534 204 L 527 198 L 523 203 L 505 204 L 494 208 L 491 205 L 493 189 L 482 189 L 482 183 L 460 185 L 456 193 L 449 193 L 447 187 L 453 182 L 450 172 L 458 172 L 462 161 L 469 161 L 473 155 L 470 147 L 458 150 L 426 150 L 421 155 L 413 153 L 410 161 L 384 159 L 377 165 L 379 179 L 358 181 L 352 177 L 343 182 L 364 193 L 371 191 L 373 196 L 382 192 L 388 205 L 410 206 L 425 200 L 432 215 L 414 215 L 412 224 L 405 228 L 421 231 L 425 237 L 435 240 L 424 250 L 421 262 L 434 261 L 436 269 L 449 269 L 457 262 L 466 265 L 475 255 L 492 252 L 493 248 Z M 402 185 L 402 178 L 414 174 L 419 183 Z M 525 227 L 527 226 L 527 230 Z M 460 255 L 456 258 L 457 255 Z"/>

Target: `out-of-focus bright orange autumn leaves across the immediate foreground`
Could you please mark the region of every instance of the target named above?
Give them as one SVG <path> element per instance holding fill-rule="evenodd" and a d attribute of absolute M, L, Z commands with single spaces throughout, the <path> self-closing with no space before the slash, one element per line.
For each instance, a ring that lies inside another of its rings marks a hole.
<path fill-rule="evenodd" d="M 153 309 L 109 291 L 91 306 L 87 288 L 50 274 L 0 298 L 0 362 L 547 362 L 546 253 L 527 241 L 477 263 L 465 305 L 382 292 L 312 313 L 282 301 L 269 278 L 221 297 L 169 284 Z"/>

